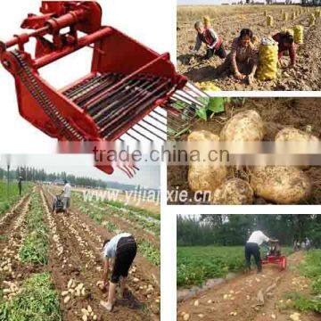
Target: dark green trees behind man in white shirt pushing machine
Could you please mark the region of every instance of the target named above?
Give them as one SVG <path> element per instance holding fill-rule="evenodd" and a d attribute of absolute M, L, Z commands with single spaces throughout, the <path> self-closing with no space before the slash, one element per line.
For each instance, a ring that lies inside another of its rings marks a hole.
<path fill-rule="evenodd" d="M 177 245 L 243 245 L 257 229 L 283 245 L 309 237 L 313 246 L 321 247 L 321 215 L 316 214 L 178 216 Z"/>

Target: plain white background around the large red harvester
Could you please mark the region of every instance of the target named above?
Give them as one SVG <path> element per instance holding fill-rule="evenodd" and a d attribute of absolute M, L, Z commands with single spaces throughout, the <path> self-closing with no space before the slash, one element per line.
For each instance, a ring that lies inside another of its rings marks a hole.
<path fill-rule="evenodd" d="M 176 4 L 173 0 L 99 1 L 103 25 L 110 25 L 158 53 L 176 49 Z M 7 1 L 0 11 L 0 39 L 20 34 L 21 22 L 29 12 L 38 13 L 40 0 Z M 31 49 L 31 47 L 26 47 Z M 117 48 L 111 48 L 117 50 Z M 85 76 L 90 70 L 92 49 L 85 48 L 40 70 L 40 75 L 57 88 Z M 172 56 L 172 61 L 176 56 Z M 53 152 L 55 140 L 22 119 L 16 101 L 12 75 L 0 66 L 0 151 L 19 153 Z"/>

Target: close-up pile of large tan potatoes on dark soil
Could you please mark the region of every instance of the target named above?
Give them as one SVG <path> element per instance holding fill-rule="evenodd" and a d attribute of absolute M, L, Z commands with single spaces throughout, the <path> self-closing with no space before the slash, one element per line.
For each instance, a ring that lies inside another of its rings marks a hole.
<path fill-rule="evenodd" d="M 207 130 L 194 131 L 188 141 L 255 142 L 265 136 L 264 122 L 257 111 L 242 111 L 221 129 L 219 137 Z M 284 128 L 276 134 L 276 142 L 318 142 L 316 136 L 296 128 Z M 226 166 L 190 163 L 188 184 L 193 192 L 211 192 L 213 204 L 251 204 L 254 195 L 270 202 L 292 204 L 309 198 L 311 182 L 299 166 L 253 166 L 244 169 L 248 181 L 227 179 Z"/>

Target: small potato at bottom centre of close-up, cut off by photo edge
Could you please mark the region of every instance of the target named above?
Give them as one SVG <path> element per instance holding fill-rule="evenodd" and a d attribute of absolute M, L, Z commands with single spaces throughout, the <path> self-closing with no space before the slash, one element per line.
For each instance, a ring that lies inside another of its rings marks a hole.
<path fill-rule="evenodd" d="M 227 180 L 213 193 L 211 202 L 217 205 L 244 205 L 253 203 L 253 190 L 240 178 Z"/>

